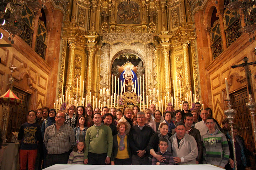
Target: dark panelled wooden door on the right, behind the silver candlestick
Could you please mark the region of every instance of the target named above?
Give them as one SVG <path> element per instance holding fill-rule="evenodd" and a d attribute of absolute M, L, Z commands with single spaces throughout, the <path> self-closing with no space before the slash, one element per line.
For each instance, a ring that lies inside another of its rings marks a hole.
<path fill-rule="evenodd" d="M 240 126 L 239 134 L 244 138 L 245 145 L 248 149 L 253 151 L 254 138 L 251 124 L 251 115 L 249 109 L 246 107 L 248 102 L 247 89 L 241 89 L 231 94 L 233 108 L 236 109 L 235 123 Z"/>

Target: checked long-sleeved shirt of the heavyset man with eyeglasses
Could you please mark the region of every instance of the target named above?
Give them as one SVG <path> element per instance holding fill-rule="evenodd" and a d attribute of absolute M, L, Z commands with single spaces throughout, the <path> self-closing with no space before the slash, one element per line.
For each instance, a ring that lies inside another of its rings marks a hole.
<path fill-rule="evenodd" d="M 75 142 L 75 134 L 69 125 L 63 124 L 57 130 L 56 124 L 54 124 L 46 128 L 43 142 L 48 154 L 62 154 L 72 149 Z"/>

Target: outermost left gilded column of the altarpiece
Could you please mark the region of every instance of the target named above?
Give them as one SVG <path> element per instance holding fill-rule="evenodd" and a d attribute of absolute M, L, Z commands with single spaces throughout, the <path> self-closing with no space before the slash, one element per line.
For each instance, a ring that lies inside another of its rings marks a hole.
<path fill-rule="evenodd" d="M 75 45 L 76 45 L 76 42 L 73 40 L 69 40 L 68 44 L 69 44 L 69 59 L 68 59 L 68 70 L 67 70 L 67 76 L 66 76 L 66 90 L 68 90 L 68 92 L 72 92 L 74 72 L 75 72 Z"/>

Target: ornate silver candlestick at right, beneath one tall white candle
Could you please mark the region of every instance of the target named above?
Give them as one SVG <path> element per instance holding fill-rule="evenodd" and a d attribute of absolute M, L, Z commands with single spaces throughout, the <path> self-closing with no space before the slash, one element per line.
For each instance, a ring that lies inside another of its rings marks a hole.
<path fill-rule="evenodd" d="M 236 153 L 235 153 L 235 142 L 234 142 L 234 134 L 233 134 L 233 124 L 235 123 L 234 120 L 235 120 L 235 115 L 236 115 L 236 110 L 235 109 L 232 109 L 232 105 L 231 105 L 231 102 L 230 100 L 226 100 L 228 101 L 228 109 L 226 109 L 224 111 L 224 114 L 226 115 L 228 121 L 229 121 L 229 124 L 230 124 L 230 129 L 231 129 L 231 140 L 232 140 L 232 147 L 233 147 L 233 154 L 234 154 L 234 167 L 235 167 L 235 170 L 237 170 L 237 166 L 236 166 Z"/>

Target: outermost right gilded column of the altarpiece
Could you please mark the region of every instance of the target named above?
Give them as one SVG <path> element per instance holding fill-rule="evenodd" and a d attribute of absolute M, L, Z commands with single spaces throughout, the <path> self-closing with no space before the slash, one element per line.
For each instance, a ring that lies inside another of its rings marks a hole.
<path fill-rule="evenodd" d="M 186 94 L 190 94 L 192 89 L 191 87 L 191 77 L 190 77 L 190 61 L 189 61 L 189 54 L 188 54 L 188 44 L 189 41 L 181 42 L 182 50 L 183 50 L 183 78 L 184 78 L 184 91 L 185 96 Z M 185 99 L 185 97 L 184 97 Z"/>

